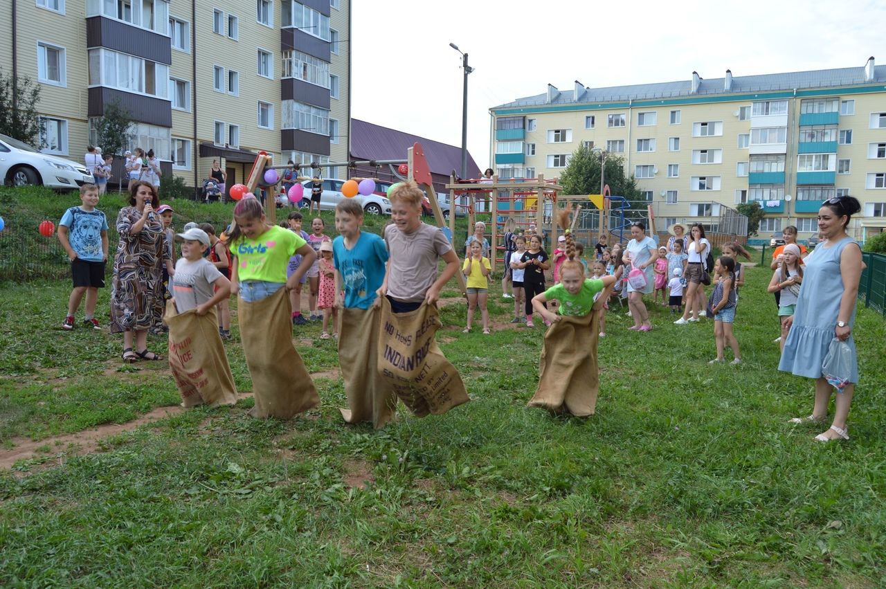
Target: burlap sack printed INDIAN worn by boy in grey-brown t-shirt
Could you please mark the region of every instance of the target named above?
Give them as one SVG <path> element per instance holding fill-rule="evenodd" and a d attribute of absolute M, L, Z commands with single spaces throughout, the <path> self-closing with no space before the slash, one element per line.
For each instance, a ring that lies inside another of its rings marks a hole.
<path fill-rule="evenodd" d="M 462 376 L 434 339 L 442 326 L 437 306 L 394 314 L 383 298 L 379 325 L 378 372 L 412 413 L 443 415 L 468 402 Z"/>

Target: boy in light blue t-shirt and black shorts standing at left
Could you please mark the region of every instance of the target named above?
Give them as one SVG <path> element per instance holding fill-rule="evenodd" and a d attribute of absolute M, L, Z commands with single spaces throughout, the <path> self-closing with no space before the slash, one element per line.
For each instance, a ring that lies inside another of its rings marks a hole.
<path fill-rule="evenodd" d="M 83 184 L 80 187 L 82 205 L 72 206 L 58 221 L 58 241 L 71 259 L 74 290 L 67 300 L 67 316 L 62 329 L 74 329 L 74 314 L 86 295 L 84 324 L 102 329 L 96 320 L 98 289 L 105 288 L 105 262 L 108 259 L 108 221 L 105 213 L 97 210 L 98 187 Z"/>

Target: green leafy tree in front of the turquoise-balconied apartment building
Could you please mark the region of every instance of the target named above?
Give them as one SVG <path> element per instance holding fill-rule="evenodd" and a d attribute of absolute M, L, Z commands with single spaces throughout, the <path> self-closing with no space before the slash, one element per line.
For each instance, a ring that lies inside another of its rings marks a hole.
<path fill-rule="evenodd" d="M 560 174 L 565 194 L 600 194 L 600 157 L 603 153 L 592 151 L 585 145 L 572 152 L 569 165 Z M 609 184 L 610 194 L 627 198 L 631 208 L 645 207 L 647 201 L 642 198 L 633 174 L 625 175 L 625 159 L 611 153 L 605 153 L 605 156 L 604 181 Z"/>

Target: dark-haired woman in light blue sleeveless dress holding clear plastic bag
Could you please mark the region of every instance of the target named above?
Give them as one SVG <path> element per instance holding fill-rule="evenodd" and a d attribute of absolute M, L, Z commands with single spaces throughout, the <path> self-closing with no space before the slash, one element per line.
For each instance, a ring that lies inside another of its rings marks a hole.
<path fill-rule="evenodd" d="M 852 327 L 855 304 L 863 267 L 859 244 L 846 235 L 846 226 L 854 213 L 861 210 L 852 197 L 826 200 L 819 209 L 819 231 L 823 241 L 808 255 L 803 284 L 797 297 L 794 316 L 787 322 L 788 341 L 781 353 L 779 370 L 815 379 L 815 404 L 812 415 L 795 417 L 793 423 L 824 422 L 828 417 L 832 386 L 821 374 L 821 363 L 835 337 L 852 350 L 852 374 L 835 400 L 834 422 L 815 439 L 849 439 L 846 417 L 852 402 L 855 384 L 859 382 L 858 357 Z"/>

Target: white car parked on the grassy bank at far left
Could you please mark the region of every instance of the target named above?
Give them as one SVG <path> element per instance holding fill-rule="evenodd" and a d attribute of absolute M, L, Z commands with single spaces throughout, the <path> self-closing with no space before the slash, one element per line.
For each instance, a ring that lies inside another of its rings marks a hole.
<path fill-rule="evenodd" d="M 0 178 L 4 185 L 40 185 L 76 190 L 95 183 L 92 171 L 80 162 L 41 153 L 18 139 L 0 135 Z"/>

